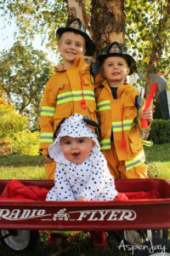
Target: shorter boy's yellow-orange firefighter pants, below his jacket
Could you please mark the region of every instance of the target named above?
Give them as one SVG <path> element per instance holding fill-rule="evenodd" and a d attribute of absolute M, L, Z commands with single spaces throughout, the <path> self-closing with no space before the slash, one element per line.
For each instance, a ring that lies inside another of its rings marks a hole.
<path fill-rule="evenodd" d="M 118 160 L 116 148 L 111 142 L 111 149 L 102 150 L 107 160 L 107 166 L 111 175 L 115 178 L 144 178 L 147 177 L 147 166 L 143 163 L 140 166 L 133 167 L 126 171 L 125 161 Z"/>

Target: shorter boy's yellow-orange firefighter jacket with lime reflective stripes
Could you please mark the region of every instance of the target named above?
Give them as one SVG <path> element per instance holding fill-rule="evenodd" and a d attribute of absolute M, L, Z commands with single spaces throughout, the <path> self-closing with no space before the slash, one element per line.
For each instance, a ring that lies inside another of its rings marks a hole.
<path fill-rule="evenodd" d="M 102 132 L 100 146 L 102 150 L 111 148 L 111 131 L 118 160 L 125 160 L 126 170 L 144 162 L 144 150 L 139 130 L 140 118 L 134 106 L 139 91 L 124 83 L 117 89 L 117 99 L 111 94 L 107 81 L 95 90 L 99 122 Z M 124 149 L 122 146 L 124 143 Z"/>

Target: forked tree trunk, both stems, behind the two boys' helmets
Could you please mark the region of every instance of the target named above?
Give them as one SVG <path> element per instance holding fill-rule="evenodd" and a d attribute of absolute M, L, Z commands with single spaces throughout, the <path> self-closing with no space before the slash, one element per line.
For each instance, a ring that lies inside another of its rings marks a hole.
<path fill-rule="evenodd" d="M 101 54 L 114 41 L 125 46 L 124 0 L 92 0 L 91 27 L 82 0 L 65 0 L 65 3 L 69 13 L 68 21 L 79 18 L 93 35 L 96 55 Z"/>

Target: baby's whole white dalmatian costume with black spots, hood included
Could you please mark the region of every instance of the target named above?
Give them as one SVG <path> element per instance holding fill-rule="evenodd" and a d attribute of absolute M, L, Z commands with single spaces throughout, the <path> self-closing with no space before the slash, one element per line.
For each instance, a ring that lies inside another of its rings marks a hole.
<path fill-rule="evenodd" d="M 114 177 L 107 167 L 104 155 L 94 131 L 75 113 L 60 125 L 59 135 L 48 148 L 49 155 L 57 162 L 54 187 L 48 192 L 47 201 L 76 201 L 84 196 L 88 201 L 112 201 L 116 199 Z M 60 146 L 61 137 L 90 137 L 95 146 L 88 159 L 74 164 L 65 159 Z"/>

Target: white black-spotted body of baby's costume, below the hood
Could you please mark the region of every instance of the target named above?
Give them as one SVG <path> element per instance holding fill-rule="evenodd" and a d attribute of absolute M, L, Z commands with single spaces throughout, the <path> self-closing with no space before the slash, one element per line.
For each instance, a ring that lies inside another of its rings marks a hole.
<path fill-rule="evenodd" d="M 101 152 L 95 154 L 95 159 L 94 153 L 90 154 L 81 165 L 57 164 L 54 188 L 48 192 L 47 201 L 75 201 L 80 195 L 88 201 L 112 201 L 116 198 L 114 178 Z"/>

